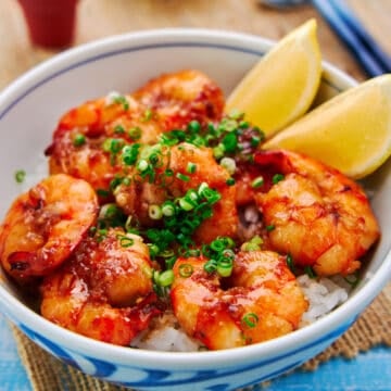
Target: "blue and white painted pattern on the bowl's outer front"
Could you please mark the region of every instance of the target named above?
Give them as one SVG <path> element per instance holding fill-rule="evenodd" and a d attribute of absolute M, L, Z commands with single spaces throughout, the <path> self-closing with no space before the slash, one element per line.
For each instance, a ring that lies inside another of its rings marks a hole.
<path fill-rule="evenodd" d="M 227 391 L 232 390 L 234 384 L 237 384 L 236 387 L 251 386 L 295 368 L 328 346 L 335 339 L 341 336 L 351 324 L 352 321 L 342 325 L 317 341 L 300 346 L 289 353 L 277 355 L 270 360 L 262 360 L 247 366 L 238 363 L 230 368 L 193 371 L 168 371 L 140 368 L 130 365 L 115 365 L 71 351 L 64 345 L 55 344 L 53 341 L 24 325 L 18 325 L 18 328 L 30 340 L 65 364 L 72 365 L 90 376 L 98 377 L 105 381 L 137 388 L 138 390 L 187 390 L 189 384 L 191 384 L 191 387 L 197 387 L 194 388 L 197 390 Z M 128 381 L 122 380 L 123 374 L 125 373 L 129 379 Z"/>

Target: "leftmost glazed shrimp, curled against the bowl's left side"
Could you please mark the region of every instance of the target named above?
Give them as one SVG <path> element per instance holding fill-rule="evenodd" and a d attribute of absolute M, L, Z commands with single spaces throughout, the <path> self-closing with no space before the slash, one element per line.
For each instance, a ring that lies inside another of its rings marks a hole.
<path fill-rule="evenodd" d="M 52 175 L 21 194 L 0 232 L 4 269 L 24 280 L 59 267 L 83 240 L 98 215 L 98 200 L 86 181 Z"/>

